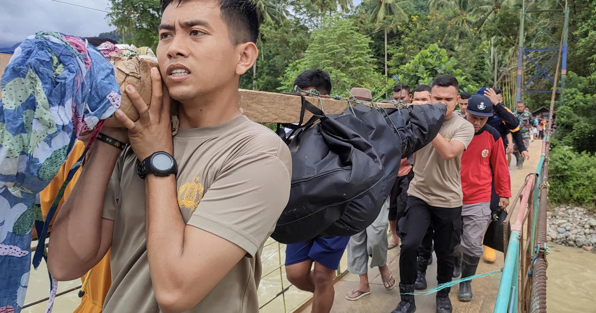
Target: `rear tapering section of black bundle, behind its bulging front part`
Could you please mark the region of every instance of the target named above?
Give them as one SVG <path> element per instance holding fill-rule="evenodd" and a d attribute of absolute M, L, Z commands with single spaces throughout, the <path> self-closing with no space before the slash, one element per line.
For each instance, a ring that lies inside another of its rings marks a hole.
<path fill-rule="evenodd" d="M 446 111 L 444 104 L 424 104 L 399 109 L 371 108 L 358 104 L 352 109 L 346 109 L 344 116 L 354 114 L 367 128 L 368 141 L 380 157 L 384 176 L 362 197 L 350 201 L 343 215 L 321 235 L 350 236 L 372 224 L 398 177 L 402 159 L 400 156 L 409 156 L 429 144 L 439 132 Z M 340 116 L 337 120 L 350 128 L 359 129 L 352 119 Z"/>

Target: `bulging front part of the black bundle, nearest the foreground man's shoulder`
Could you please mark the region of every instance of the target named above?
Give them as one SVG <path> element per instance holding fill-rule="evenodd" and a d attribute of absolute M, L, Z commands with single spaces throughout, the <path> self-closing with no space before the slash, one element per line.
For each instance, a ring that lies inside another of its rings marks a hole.
<path fill-rule="evenodd" d="M 360 120 L 351 114 L 326 116 L 301 97 L 300 124 L 305 110 L 313 117 L 305 125 L 291 126 L 300 129 L 286 140 L 292 155 L 290 199 L 271 234 L 281 243 L 298 243 L 321 234 L 340 219 L 351 200 L 384 176 Z M 345 123 L 337 120 L 340 116 Z M 353 123 L 347 122 L 350 119 Z"/>

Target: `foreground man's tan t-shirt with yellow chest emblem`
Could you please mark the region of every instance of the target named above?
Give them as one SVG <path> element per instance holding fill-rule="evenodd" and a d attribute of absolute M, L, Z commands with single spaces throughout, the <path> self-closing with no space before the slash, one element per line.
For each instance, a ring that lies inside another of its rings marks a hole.
<path fill-rule="evenodd" d="M 245 116 L 182 130 L 173 143 L 184 222 L 247 252 L 188 312 L 259 312 L 260 254 L 290 196 L 290 150 L 274 132 Z M 114 221 L 112 285 L 104 312 L 159 312 L 145 245 L 145 183 L 136 174 L 131 148 L 114 168 L 103 216 Z"/>

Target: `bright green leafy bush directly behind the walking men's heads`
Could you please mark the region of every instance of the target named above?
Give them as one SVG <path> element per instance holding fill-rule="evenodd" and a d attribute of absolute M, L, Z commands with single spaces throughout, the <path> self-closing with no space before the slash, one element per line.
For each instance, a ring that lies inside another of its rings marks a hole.
<path fill-rule="evenodd" d="M 421 50 L 411 61 L 399 68 L 399 72 L 403 73 L 400 79 L 410 86 L 430 85 L 436 76 L 449 74 L 458 79 L 462 91 L 476 91 L 478 87 L 468 82 L 468 76 L 461 69 L 457 69 L 456 64 L 457 60 L 454 57 L 448 57 L 445 49 L 439 48 L 437 44 L 431 44 L 429 48 Z"/>

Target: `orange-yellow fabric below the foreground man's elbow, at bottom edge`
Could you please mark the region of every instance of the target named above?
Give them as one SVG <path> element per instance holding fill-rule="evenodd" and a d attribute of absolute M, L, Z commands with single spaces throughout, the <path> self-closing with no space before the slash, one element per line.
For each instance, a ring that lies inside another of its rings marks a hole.
<path fill-rule="evenodd" d="M 97 265 L 80 278 L 83 283 L 85 283 L 87 275 L 89 275 L 89 279 L 81 288 L 85 295 L 80 299 L 80 305 L 73 313 L 101 313 L 105 295 L 111 286 L 110 250 L 105 253 L 104 258 Z"/>

